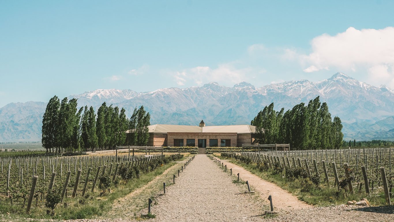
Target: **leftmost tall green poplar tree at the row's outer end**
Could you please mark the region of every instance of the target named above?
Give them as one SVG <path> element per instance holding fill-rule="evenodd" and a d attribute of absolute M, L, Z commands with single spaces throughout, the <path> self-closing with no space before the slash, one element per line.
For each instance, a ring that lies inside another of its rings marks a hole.
<path fill-rule="evenodd" d="M 57 96 L 52 97 L 46 105 L 45 113 L 43 116 L 43 126 L 41 129 L 43 147 L 46 152 L 54 151 L 57 145 L 57 126 L 59 115 L 60 102 Z"/>

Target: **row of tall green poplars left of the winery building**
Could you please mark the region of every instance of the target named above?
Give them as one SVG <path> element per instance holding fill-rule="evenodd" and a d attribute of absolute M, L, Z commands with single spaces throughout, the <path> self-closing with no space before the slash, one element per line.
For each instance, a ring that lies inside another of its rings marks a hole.
<path fill-rule="evenodd" d="M 42 143 L 46 152 L 108 150 L 121 145 L 146 145 L 151 115 L 141 106 L 126 117 L 126 110 L 102 103 L 80 107 L 76 98 L 52 97 L 43 115 Z"/>

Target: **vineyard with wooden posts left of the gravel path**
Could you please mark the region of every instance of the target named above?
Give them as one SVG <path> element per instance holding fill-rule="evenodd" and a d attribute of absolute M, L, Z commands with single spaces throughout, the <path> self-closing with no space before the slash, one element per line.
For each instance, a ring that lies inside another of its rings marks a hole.
<path fill-rule="evenodd" d="M 1 158 L 0 211 L 31 216 L 54 215 L 57 211 L 72 211 L 71 206 L 78 205 L 85 206 L 81 211 L 93 212 L 76 212 L 69 218 L 99 214 L 89 208 L 90 203 L 182 157 L 181 154 L 153 154 Z M 104 203 L 99 207 L 104 208 Z"/>

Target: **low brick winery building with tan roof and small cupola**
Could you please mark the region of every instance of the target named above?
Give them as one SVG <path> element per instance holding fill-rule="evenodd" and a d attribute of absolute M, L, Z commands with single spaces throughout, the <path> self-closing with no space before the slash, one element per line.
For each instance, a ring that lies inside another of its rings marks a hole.
<path fill-rule="evenodd" d="M 156 124 L 149 126 L 148 146 L 242 147 L 254 141 L 255 126 L 199 126 Z"/>

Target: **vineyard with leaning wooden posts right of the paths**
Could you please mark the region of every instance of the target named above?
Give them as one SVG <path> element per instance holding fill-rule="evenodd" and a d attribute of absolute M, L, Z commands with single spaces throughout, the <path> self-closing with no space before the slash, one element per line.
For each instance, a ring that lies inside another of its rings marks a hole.
<path fill-rule="evenodd" d="M 392 148 L 370 148 L 222 153 L 221 156 L 253 164 L 258 171 L 280 175 L 288 182 L 297 181 L 301 191 L 313 190 L 309 187 L 331 188 L 335 193 L 327 196 L 328 199 L 359 195 L 384 205 L 394 197 L 392 152 Z"/>

